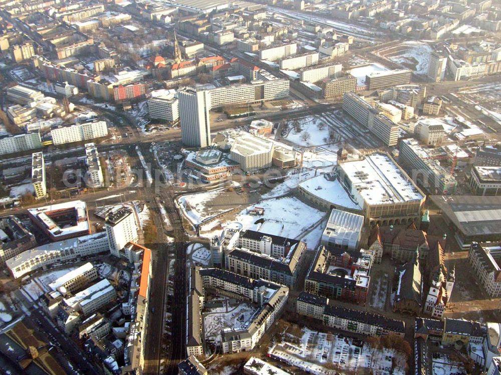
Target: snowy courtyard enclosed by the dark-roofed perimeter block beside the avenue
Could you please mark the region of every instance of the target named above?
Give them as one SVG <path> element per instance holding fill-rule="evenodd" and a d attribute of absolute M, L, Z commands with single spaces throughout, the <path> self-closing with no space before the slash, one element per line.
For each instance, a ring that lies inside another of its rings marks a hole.
<path fill-rule="evenodd" d="M 256 308 L 247 303 L 238 303 L 235 306 L 227 306 L 217 308 L 214 313 L 208 312 L 204 317 L 205 337 L 213 339 L 215 342 L 220 341 L 220 333 L 226 328 L 241 328 L 247 320 L 254 314 Z M 222 310 L 222 311 L 221 311 Z"/>

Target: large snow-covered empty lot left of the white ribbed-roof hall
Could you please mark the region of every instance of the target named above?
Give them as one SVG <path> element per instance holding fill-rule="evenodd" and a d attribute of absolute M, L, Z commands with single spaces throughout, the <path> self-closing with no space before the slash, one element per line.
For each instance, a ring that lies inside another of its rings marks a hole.
<path fill-rule="evenodd" d="M 264 215 L 250 215 L 248 212 L 254 210 L 255 207 L 264 208 Z M 310 207 L 295 197 L 282 197 L 268 199 L 250 205 L 238 212 L 234 220 L 221 223 L 220 225 L 225 227 L 230 222 L 236 221 L 242 225 L 243 230 L 252 229 L 277 236 L 298 238 L 302 236 L 303 233 L 313 229 L 316 223 L 324 216 L 325 212 Z M 211 231 L 217 224 L 219 223 L 216 220 L 202 227 L 202 230 L 210 231 L 202 235 L 210 238 L 214 234 L 219 234 L 220 230 Z"/>

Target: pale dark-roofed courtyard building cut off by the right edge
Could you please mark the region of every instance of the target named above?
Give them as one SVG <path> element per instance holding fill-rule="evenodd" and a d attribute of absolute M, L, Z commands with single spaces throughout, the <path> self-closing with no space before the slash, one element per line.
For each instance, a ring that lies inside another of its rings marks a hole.
<path fill-rule="evenodd" d="M 501 243 L 473 242 L 468 252 L 468 264 L 489 298 L 501 297 Z"/>

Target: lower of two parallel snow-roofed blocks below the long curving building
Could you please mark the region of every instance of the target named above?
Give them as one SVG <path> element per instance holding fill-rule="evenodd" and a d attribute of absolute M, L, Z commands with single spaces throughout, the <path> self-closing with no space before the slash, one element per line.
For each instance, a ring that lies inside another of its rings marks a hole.
<path fill-rule="evenodd" d="M 73 297 L 63 299 L 63 303 L 75 310 L 90 315 L 117 298 L 115 288 L 107 280 L 101 280 Z"/>

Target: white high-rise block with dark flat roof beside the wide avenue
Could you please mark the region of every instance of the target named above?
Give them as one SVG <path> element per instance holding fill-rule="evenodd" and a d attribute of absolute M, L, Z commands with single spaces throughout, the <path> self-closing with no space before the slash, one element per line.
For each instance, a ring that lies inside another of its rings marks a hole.
<path fill-rule="evenodd" d="M 138 227 L 132 210 L 127 207 L 112 210 L 106 217 L 105 227 L 111 254 L 119 258 L 125 256 L 120 250 L 128 242 L 138 239 Z"/>

